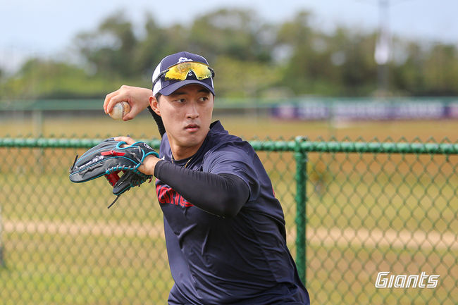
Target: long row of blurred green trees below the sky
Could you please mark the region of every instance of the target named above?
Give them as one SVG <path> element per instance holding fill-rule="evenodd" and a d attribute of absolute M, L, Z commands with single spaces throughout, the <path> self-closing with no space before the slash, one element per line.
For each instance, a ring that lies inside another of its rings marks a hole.
<path fill-rule="evenodd" d="M 346 27 L 324 32 L 308 11 L 279 24 L 237 8 L 199 15 L 188 26 L 161 27 L 151 13 L 145 20 L 144 35 L 137 37 L 123 12 L 109 15 L 75 37 L 84 70 L 30 58 L 15 75 L 0 74 L 0 97 L 103 97 L 123 83 L 150 87 L 161 58 L 183 50 L 209 59 L 218 97 L 376 93 L 376 34 Z M 458 94 L 457 46 L 396 37 L 394 44 L 401 54 L 388 66 L 394 94 Z"/>

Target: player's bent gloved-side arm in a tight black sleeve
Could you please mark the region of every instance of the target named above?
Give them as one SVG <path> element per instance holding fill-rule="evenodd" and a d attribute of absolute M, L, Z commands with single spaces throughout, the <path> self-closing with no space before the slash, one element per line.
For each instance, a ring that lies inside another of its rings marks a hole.
<path fill-rule="evenodd" d="M 218 216 L 237 215 L 249 197 L 247 184 L 236 175 L 189 170 L 168 161 L 156 163 L 154 175 L 194 206 Z"/>

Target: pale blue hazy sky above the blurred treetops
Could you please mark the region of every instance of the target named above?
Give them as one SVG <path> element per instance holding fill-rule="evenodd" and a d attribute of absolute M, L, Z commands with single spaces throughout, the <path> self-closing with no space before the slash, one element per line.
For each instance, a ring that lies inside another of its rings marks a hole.
<path fill-rule="evenodd" d="M 0 0 L 0 67 L 15 68 L 27 56 L 65 56 L 75 35 L 120 10 L 138 27 L 148 12 L 166 26 L 218 8 L 249 8 L 269 23 L 308 10 L 324 30 L 345 25 L 370 31 L 378 28 L 380 1 L 388 4 L 383 20 L 393 35 L 458 46 L 458 0 Z"/>

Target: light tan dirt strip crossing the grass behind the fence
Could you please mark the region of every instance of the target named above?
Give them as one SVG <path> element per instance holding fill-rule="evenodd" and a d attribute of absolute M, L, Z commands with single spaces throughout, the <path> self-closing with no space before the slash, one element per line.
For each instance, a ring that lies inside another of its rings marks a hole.
<path fill-rule="evenodd" d="M 3 223 L 4 232 L 27 234 L 94 235 L 116 237 L 163 238 L 162 225 L 143 223 L 68 223 L 51 221 L 11 221 Z M 1 232 L 1 228 L 0 228 Z M 458 249 L 458 237 L 452 232 L 421 230 L 367 230 L 364 228 L 307 228 L 307 243 L 326 247 L 393 247 L 409 249 Z M 295 231 L 287 235 L 288 243 L 295 241 Z"/>

